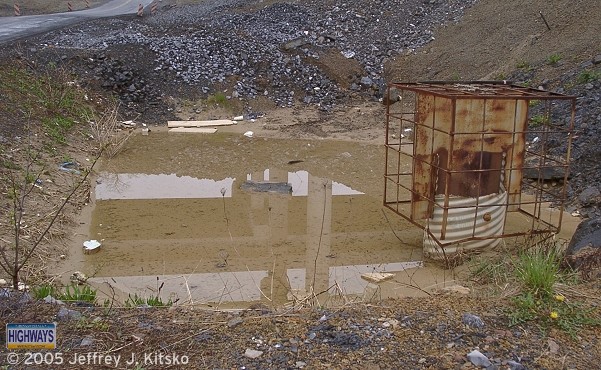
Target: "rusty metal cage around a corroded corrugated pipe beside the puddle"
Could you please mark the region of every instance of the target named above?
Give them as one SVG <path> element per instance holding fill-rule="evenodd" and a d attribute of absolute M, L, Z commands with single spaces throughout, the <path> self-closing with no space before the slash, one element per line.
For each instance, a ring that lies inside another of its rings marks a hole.
<path fill-rule="evenodd" d="M 425 254 L 559 232 L 575 97 L 502 81 L 420 82 L 390 84 L 384 101 L 384 205 L 424 230 Z"/>

